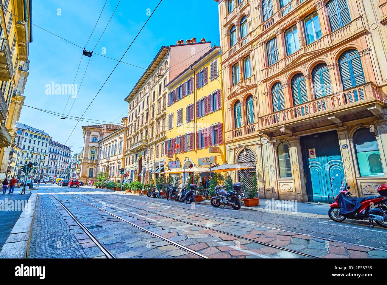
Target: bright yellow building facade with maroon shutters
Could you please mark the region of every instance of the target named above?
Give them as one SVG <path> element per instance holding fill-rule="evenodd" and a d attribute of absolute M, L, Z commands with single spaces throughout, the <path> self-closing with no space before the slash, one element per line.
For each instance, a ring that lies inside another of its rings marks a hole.
<path fill-rule="evenodd" d="M 225 162 L 221 48 L 212 47 L 167 85 L 166 168 Z M 209 176 L 209 173 L 201 174 Z M 186 180 L 188 173 L 183 180 Z"/>

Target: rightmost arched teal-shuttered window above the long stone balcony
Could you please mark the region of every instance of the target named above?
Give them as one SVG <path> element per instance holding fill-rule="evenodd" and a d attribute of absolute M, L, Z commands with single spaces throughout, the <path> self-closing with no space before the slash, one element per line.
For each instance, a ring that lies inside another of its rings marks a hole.
<path fill-rule="evenodd" d="M 343 89 L 365 83 L 363 67 L 357 50 L 346 50 L 339 57 L 339 68 Z"/>

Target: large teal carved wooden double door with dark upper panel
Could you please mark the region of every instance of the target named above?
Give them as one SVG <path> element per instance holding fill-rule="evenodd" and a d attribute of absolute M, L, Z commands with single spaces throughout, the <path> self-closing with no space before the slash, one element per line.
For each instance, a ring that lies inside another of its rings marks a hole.
<path fill-rule="evenodd" d="M 334 202 L 344 177 L 337 132 L 304 136 L 301 148 L 309 202 Z"/>

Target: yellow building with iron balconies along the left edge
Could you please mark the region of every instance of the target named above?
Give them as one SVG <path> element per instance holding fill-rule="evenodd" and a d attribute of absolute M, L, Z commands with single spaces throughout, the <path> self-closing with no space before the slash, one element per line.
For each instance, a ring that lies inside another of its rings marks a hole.
<path fill-rule="evenodd" d="M 24 102 L 32 41 L 31 0 L 3 1 L 0 9 L 0 178 L 10 173 L 9 152 Z"/>

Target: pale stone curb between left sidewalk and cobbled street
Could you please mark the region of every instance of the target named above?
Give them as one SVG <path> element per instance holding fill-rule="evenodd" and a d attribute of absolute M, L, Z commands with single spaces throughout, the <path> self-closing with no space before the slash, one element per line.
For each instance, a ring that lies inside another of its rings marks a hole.
<path fill-rule="evenodd" d="M 34 222 L 37 193 L 31 194 L 2 249 L 0 258 L 26 258 Z"/>

